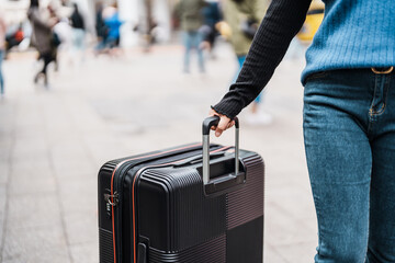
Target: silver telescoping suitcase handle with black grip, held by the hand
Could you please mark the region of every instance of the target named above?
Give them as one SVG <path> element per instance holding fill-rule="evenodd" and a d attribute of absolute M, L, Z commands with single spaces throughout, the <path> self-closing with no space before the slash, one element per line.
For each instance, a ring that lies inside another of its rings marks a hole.
<path fill-rule="evenodd" d="M 239 122 L 235 117 L 235 175 L 239 174 Z M 207 117 L 203 122 L 203 183 L 210 183 L 210 130 L 217 126 L 219 116 Z"/>

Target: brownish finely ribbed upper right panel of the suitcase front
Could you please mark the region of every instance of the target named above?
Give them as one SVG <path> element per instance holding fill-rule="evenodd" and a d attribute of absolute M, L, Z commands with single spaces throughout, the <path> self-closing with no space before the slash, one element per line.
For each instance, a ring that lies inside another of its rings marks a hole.
<path fill-rule="evenodd" d="M 227 195 L 227 228 L 233 229 L 263 215 L 263 161 L 258 155 L 244 159 L 246 186 Z"/>

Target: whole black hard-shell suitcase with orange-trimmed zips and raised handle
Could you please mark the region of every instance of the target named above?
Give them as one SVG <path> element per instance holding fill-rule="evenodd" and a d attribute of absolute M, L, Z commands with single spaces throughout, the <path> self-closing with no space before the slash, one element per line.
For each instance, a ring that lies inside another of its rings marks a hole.
<path fill-rule="evenodd" d="M 238 122 L 235 147 L 210 145 L 217 122 L 203 144 L 100 169 L 100 263 L 262 262 L 263 161 L 238 149 Z"/>

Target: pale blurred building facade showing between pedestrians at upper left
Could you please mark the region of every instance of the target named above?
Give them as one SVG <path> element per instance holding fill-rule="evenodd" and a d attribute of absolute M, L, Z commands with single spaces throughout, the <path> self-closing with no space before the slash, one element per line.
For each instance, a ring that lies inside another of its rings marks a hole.
<path fill-rule="evenodd" d="M 124 47 L 140 44 L 142 35 L 151 24 L 157 25 L 158 41 L 166 43 L 171 39 L 171 10 L 177 0 L 41 0 L 43 5 L 58 7 L 78 3 L 87 20 L 88 31 L 94 34 L 95 7 L 117 3 L 120 18 L 124 21 L 121 28 L 121 45 Z M 30 0 L 0 0 L 9 24 L 26 21 Z M 67 12 L 67 11 L 66 11 Z M 137 28 L 138 31 L 134 30 Z"/>

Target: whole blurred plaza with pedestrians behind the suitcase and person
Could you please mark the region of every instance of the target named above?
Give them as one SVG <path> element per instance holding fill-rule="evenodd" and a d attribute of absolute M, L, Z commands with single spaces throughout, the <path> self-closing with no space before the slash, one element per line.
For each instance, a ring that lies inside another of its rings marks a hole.
<path fill-rule="evenodd" d="M 0 0 L 0 262 L 99 262 L 100 167 L 200 141 L 269 3 Z M 313 1 L 240 114 L 241 148 L 266 162 L 269 263 L 313 261 L 317 244 L 300 75 L 323 13 Z M 232 145 L 234 134 L 212 140 Z"/>

